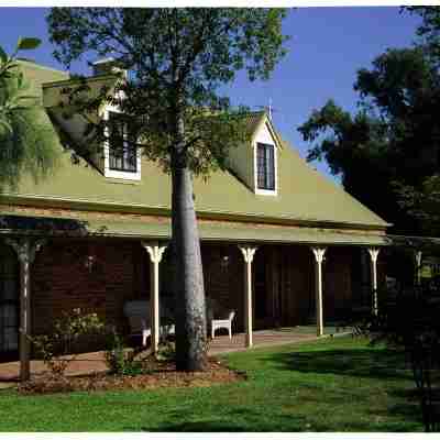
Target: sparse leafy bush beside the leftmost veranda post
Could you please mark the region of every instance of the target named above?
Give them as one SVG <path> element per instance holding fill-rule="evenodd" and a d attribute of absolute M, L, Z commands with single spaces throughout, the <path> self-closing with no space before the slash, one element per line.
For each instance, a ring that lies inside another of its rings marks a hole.
<path fill-rule="evenodd" d="M 63 376 L 69 362 L 76 359 L 73 348 L 78 339 L 86 334 L 99 334 L 103 323 L 97 314 L 82 315 L 79 308 L 63 312 L 50 334 L 29 337 L 44 364 L 55 376 Z"/>

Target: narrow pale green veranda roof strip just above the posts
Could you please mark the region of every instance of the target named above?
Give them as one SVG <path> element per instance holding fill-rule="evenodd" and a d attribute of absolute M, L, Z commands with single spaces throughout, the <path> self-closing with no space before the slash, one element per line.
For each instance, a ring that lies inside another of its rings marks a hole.
<path fill-rule="evenodd" d="M 77 218 L 47 218 L 6 215 L 0 216 L 0 233 L 44 237 L 113 237 L 169 240 L 170 221 L 121 221 L 116 219 L 85 220 Z M 385 235 L 341 233 L 318 228 L 249 226 L 232 222 L 199 222 L 202 241 L 233 241 L 254 243 L 297 243 L 333 245 L 386 245 Z"/>

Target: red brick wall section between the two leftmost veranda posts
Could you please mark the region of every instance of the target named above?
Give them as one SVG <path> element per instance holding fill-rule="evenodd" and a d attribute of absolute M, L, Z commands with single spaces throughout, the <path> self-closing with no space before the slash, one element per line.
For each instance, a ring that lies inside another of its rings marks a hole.
<path fill-rule="evenodd" d="M 95 311 L 124 328 L 123 302 L 148 295 L 148 266 L 139 242 L 51 241 L 32 267 L 33 331 L 45 332 L 63 311 Z M 96 256 L 91 271 L 88 255 Z"/>

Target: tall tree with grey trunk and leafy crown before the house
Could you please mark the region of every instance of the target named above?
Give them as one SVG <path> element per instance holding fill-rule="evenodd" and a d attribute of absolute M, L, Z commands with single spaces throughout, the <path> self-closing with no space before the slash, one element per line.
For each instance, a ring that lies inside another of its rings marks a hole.
<path fill-rule="evenodd" d="M 219 87 L 240 69 L 251 80 L 268 78 L 285 54 L 284 16 L 280 9 L 217 8 L 54 8 L 47 16 L 55 57 L 66 66 L 82 56 L 111 56 L 129 73 L 110 97 L 102 92 L 100 98 L 129 118 L 129 142 L 170 173 L 176 361 L 182 370 L 202 370 L 206 348 L 191 176 L 226 168 L 229 150 L 249 139 L 243 109 L 232 109 Z M 75 102 L 82 113 L 99 106 L 99 99 Z M 95 133 L 98 144 L 112 130 L 102 120 L 92 125 L 87 134 Z"/>

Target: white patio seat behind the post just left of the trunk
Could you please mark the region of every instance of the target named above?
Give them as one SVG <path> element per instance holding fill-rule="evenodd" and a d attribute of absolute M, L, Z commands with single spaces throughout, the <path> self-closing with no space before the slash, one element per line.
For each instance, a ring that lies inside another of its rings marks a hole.
<path fill-rule="evenodd" d="M 127 301 L 123 312 L 129 320 L 130 336 L 142 336 L 142 346 L 146 346 L 146 340 L 151 337 L 150 301 L 142 299 Z M 175 334 L 173 317 L 164 305 L 161 306 L 161 321 L 166 322 L 160 327 L 161 338 Z"/>

